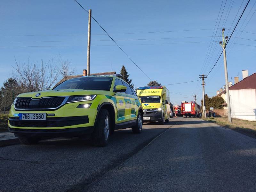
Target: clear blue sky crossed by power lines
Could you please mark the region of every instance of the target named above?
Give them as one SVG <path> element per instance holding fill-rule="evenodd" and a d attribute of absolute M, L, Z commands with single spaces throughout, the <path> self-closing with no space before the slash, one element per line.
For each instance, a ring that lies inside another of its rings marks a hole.
<path fill-rule="evenodd" d="M 213 28 L 220 11 L 222 0 L 218 1 L 78 1 L 85 9 L 92 9 L 92 15 L 106 29 L 124 51 L 153 80 L 162 84 L 180 83 L 199 79 L 199 74 L 207 74 L 219 55 L 221 30 L 215 36 Z M 219 19 L 219 28 L 226 28 L 225 35 L 230 36 L 231 27 L 242 1 L 223 0 Z M 232 29 L 240 16 L 247 0 L 242 4 Z M 242 79 L 241 71 L 249 70 L 249 75 L 256 72 L 256 9 L 255 0 L 251 0 L 237 26 L 237 30 L 251 32 L 235 32 L 227 46 L 228 76 Z M 232 7 L 231 7 L 232 5 Z M 253 6 L 254 5 L 254 6 Z M 228 9 L 229 7 L 229 9 Z M 231 10 L 230 10 L 231 7 Z M 228 15 L 227 10 L 230 10 Z M 251 12 L 250 12 L 251 10 Z M 227 14 L 226 14 L 227 13 Z M 249 14 L 250 13 L 250 14 Z M 227 18 L 228 16 L 228 18 Z M 252 16 L 252 18 L 251 18 Z M 226 21 L 226 19 L 227 21 Z M 248 25 L 246 26 L 248 20 Z M 225 19 L 225 20 L 224 20 Z M 245 20 L 246 19 L 246 20 Z M 223 26 L 222 24 L 225 23 Z M 61 54 L 76 68 L 76 74 L 82 74 L 86 68 L 88 14 L 73 0 L 62 1 L 14 1 L 4 0 L 0 7 L 0 83 L 12 76 L 14 59 L 19 62 L 40 62 Z M 218 27 L 219 20 L 217 21 Z M 246 27 L 245 27 L 246 26 Z M 244 28 L 245 27 L 245 28 Z M 211 29 L 197 31 L 161 32 L 190 29 Z M 229 33 L 228 33 L 229 32 Z M 126 34 L 116 34 L 126 33 Z M 133 34 L 127 34 L 133 33 Z M 252 34 L 254 33 L 254 34 Z M 64 36 L 64 35 L 71 36 Z M 79 34 L 79 35 L 78 35 Z M 101 28 L 92 21 L 91 73 L 120 71 L 125 65 L 135 86 L 143 86 L 149 79 L 114 45 Z M 240 36 L 241 34 L 241 36 Z M 21 35 L 21 36 L 19 36 Z M 63 36 L 22 36 L 22 35 L 63 35 Z M 177 38 L 194 37 L 194 38 Z M 196 38 L 200 37 L 200 38 Z M 165 39 L 163 39 L 165 38 Z M 252 40 L 246 40 L 246 39 Z M 136 39 L 136 40 L 127 40 Z M 151 39 L 151 40 L 138 40 Z M 153 39 L 153 40 L 152 40 Z M 82 40 L 82 41 L 80 41 Z M 126 40 L 126 41 L 118 41 Z M 254 40 L 254 41 L 253 41 Z M 22 41 L 23 43 L 10 43 Z M 28 41 L 75 41 L 75 42 L 28 42 Z M 8 42 L 8 43 L 2 43 Z M 185 42 L 185 43 L 184 43 Z M 187 43 L 203 42 L 203 43 Z M 237 44 L 231 44 L 237 43 Z M 173 44 L 175 43 L 175 44 Z M 137 44 L 137 45 L 134 45 Z M 138 45 L 151 44 L 151 45 Z M 239 45 L 246 44 L 246 45 Z M 83 45 L 83 46 L 73 46 Z M 125 46 L 126 45 L 126 46 Z M 210 57 L 203 68 L 208 47 Z M 252 45 L 252 46 L 248 46 Z M 38 46 L 38 47 L 19 47 Z M 46 47 L 42 47 L 46 46 Z M 68 47 L 47 47 L 68 46 Z M 215 50 L 215 52 L 213 52 Z M 212 57 L 211 57 L 212 56 Z M 210 60 L 210 58 L 212 58 Z M 202 70 L 203 69 L 203 70 Z M 225 84 L 223 56 L 206 79 L 205 91 L 210 96 Z M 1 85 L 2 86 L 2 85 Z M 182 100 L 193 100 L 193 94 L 202 98 L 201 82 L 167 86 L 171 93 L 171 101 L 180 103 Z M 179 94 L 177 94 L 179 93 Z M 186 97 L 186 98 L 181 98 Z M 198 102 L 199 103 L 199 102 Z"/>

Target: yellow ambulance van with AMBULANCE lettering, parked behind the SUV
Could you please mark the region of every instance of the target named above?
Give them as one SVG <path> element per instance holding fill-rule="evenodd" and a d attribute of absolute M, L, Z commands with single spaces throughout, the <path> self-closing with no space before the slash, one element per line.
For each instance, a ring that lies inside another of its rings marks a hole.
<path fill-rule="evenodd" d="M 139 87 L 137 94 L 142 103 L 144 122 L 169 122 L 170 92 L 165 86 Z"/>

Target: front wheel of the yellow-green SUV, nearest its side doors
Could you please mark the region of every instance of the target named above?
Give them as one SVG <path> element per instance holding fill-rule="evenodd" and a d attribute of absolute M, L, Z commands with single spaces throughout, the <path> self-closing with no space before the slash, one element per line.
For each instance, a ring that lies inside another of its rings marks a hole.
<path fill-rule="evenodd" d="M 92 133 L 93 144 L 97 147 L 108 145 L 110 133 L 110 116 L 107 109 L 101 109 L 96 126 Z"/>

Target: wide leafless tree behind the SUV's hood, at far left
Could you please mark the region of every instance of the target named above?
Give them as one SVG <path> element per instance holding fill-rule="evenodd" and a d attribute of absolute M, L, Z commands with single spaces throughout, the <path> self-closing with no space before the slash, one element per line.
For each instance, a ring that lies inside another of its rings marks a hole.
<path fill-rule="evenodd" d="M 34 92 L 48 90 L 57 83 L 59 73 L 58 68 L 53 64 L 53 59 L 40 64 L 19 63 L 15 59 L 13 78 L 20 85 L 22 92 Z"/>

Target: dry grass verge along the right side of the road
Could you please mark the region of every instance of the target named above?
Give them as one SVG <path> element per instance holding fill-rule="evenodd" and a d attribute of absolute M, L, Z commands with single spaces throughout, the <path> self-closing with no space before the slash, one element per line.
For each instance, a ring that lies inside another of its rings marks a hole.
<path fill-rule="evenodd" d="M 210 117 L 210 118 L 202 117 L 202 119 L 211 123 L 222 125 L 223 127 L 227 127 L 234 131 L 256 138 L 256 121 L 247 121 L 247 120 L 232 118 L 232 124 L 231 124 L 228 122 L 228 117 Z"/>

